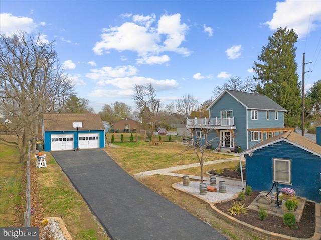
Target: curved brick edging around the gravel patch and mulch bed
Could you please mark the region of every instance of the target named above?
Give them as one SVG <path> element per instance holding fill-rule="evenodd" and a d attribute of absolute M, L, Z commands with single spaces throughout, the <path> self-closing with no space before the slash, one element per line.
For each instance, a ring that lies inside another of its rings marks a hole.
<path fill-rule="evenodd" d="M 176 190 L 179 190 L 179 191 L 182 191 L 182 192 L 185 192 L 189 195 L 192 195 L 198 199 L 201 199 L 202 201 L 205 201 L 207 203 L 210 204 L 211 208 L 214 210 L 214 213 L 223 218 L 224 220 L 228 220 L 229 222 L 231 222 L 233 225 L 235 226 L 238 226 L 238 227 L 241 227 L 243 228 L 244 230 L 248 231 L 250 234 L 256 236 L 256 237 L 259 237 L 259 238 L 262 238 L 262 239 L 265 239 L 265 240 L 300 240 L 299 238 L 296 238 L 296 237 L 292 237 L 292 236 L 287 236 L 287 235 L 282 235 L 282 234 L 278 234 L 278 233 L 274 233 L 274 232 L 270 232 L 270 231 L 266 231 L 266 230 L 263 230 L 261 228 L 258 228 L 258 227 L 255 227 L 255 226 L 252 226 L 248 223 L 245 223 L 243 221 L 240 221 L 222 211 L 220 211 L 219 209 L 217 209 L 215 207 L 215 203 L 220 203 L 220 202 L 225 202 L 225 201 L 230 201 L 231 199 L 229 200 L 223 200 L 223 201 L 217 201 L 217 202 L 210 202 L 196 194 L 193 194 L 193 193 L 190 193 L 188 191 L 185 191 L 185 190 L 182 190 L 178 187 L 176 187 L 176 184 L 179 184 L 181 182 L 177 182 L 177 183 L 174 183 L 172 184 L 172 187 Z M 238 194 L 239 193 L 236 193 L 234 195 L 234 198 L 232 199 L 236 199 L 238 197 Z M 308 201 L 308 200 L 307 200 Z M 314 201 L 310 201 L 310 202 L 314 202 Z M 315 232 L 314 232 L 314 235 L 312 238 L 306 238 L 306 240 L 320 240 L 321 239 L 321 204 L 319 203 L 315 203 Z M 302 240 L 302 239 L 301 239 Z"/>

